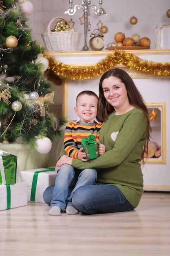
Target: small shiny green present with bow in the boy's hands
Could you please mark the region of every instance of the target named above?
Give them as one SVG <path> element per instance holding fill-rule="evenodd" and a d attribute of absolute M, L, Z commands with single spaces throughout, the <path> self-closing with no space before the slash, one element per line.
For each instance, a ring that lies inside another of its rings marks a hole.
<path fill-rule="evenodd" d="M 82 147 L 86 153 L 85 159 L 95 159 L 99 157 L 99 144 L 94 140 L 94 135 L 89 135 L 88 138 L 82 139 Z"/>

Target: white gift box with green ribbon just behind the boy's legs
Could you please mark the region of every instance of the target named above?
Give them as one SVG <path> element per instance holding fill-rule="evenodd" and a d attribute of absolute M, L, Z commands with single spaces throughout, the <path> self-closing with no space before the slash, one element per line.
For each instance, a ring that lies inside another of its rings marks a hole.
<path fill-rule="evenodd" d="M 23 180 L 27 182 L 28 202 L 44 203 L 43 193 L 48 186 L 55 184 L 55 168 L 38 168 L 22 171 Z"/>

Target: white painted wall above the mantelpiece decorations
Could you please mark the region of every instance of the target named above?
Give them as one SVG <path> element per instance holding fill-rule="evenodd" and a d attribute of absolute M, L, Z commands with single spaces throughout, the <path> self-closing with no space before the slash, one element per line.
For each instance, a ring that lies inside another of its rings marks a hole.
<path fill-rule="evenodd" d="M 80 25 L 79 18 L 83 11 L 77 10 L 75 15 L 64 14 L 69 9 L 69 0 L 29 0 L 34 7 L 33 13 L 29 15 L 29 26 L 33 29 L 33 37 L 38 43 L 44 45 L 41 34 L 46 32 L 49 22 L 55 17 L 63 17 L 66 20 L 75 22 L 76 31 L 82 32 L 79 50 L 84 46 L 84 25 Z M 81 4 L 81 0 L 73 0 L 75 4 Z M 99 7 L 99 0 L 91 0 L 91 4 Z M 170 9 L 170 0 L 103 0 L 102 7 L 107 16 L 97 16 L 91 10 L 89 21 L 91 31 L 88 32 L 88 40 L 94 29 L 97 29 L 99 20 L 108 27 L 108 32 L 104 34 L 105 47 L 107 43 L 114 41 L 117 32 L 125 33 L 126 37 L 131 37 L 137 33 L 141 37 L 147 36 L 151 40 L 150 49 L 155 49 L 155 29 L 156 25 L 170 22 L 166 16 L 166 11 Z M 131 25 L 129 20 L 132 16 L 138 19 L 136 25 Z M 54 24 L 55 25 L 55 24 Z M 54 27 L 53 25 L 53 27 Z M 53 28 L 52 27 L 52 28 Z"/>

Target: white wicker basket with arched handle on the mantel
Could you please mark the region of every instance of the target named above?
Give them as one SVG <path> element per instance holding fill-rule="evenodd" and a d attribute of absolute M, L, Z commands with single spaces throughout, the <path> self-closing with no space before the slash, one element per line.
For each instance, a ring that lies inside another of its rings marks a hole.
<path fill-rule="evenodd" d="M 51 32 L 51 24 L 56 19 L 62 19 L 68 23 L 62 17 L 53 18 L 47 27 L 47 32 L 42 34 L 42 39 L 46 47 L 47 52 L 75 52 L 78 51 L 79 42 L 82 33 L 73 31 L 56 31 Z"/>

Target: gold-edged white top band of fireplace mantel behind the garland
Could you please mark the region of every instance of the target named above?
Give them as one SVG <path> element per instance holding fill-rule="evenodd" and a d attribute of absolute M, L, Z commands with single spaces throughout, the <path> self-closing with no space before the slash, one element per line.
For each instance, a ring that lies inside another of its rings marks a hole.
<path fill-rule="evenodd" d="M 95 65 L 102 59 L 106 58 L 108 54 L 114 54 L 115 51 L 85 51 L 85 52 L 46 52 L 44 56 L 53 56 L 56 61 L 62 62 L 64 64 L 71 65 L 72 67 L 87 67 Z M 146 61 L 155 61 L 161 63 L 170 62 L 170 50 L 124 50 L 124 52 L 132 53 L 135 56 L 146 60 Z M 129 67 L 124 65 L 116 65 L 124 69 L 132 78 L 154 78 L 151 74 L 144 72 L 132 70 Z M 159 76 L 163 77 L 163 76 Z M 156 76 L 157 78 L 157 76 Z"/>

